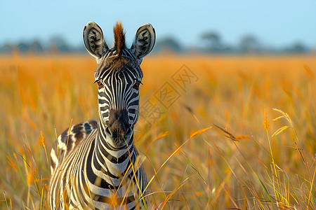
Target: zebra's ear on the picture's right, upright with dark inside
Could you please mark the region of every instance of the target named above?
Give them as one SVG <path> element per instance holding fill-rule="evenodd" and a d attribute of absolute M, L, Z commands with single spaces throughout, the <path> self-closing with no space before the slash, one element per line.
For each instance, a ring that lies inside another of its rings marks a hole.
<path fill-rule="evenodd" d="M 136 31 L 136 37 L 131 50 L 137 59 L 141 59 L 148 55 L 152 48 L 154 48 L 154 42 L 156 41 L 156 33 L 154 27 L 149 23 L 139 27 Z"/>

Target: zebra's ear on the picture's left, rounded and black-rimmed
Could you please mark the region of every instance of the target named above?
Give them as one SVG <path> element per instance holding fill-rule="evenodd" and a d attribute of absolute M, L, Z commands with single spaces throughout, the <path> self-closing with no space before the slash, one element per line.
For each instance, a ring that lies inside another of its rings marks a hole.
<path fill-rule="evenodd" d="M 93 57 L 96 57 L 97 62 L 109 49 L 103 38 L 102 29 L 96 22 L 88 22 L 84 27 L 84 45 L 86 46 L 86 50 L 88 50 Z"/>

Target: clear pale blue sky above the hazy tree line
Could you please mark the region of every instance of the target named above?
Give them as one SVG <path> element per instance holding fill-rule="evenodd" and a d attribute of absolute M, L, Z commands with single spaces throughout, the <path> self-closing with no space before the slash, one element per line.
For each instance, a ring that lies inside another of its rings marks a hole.
<path fill-rule="evenodd" d="M 173 36 L 183 45 L 196 45 L 205 31 L 217 31 L 235 45 L 254 34 L 265 45 L 283 47 L 300 41 L 316 47 L 316 1 L 2 1 L 0 45 L 47 42 L 60 35 L 71 45 L 83 45 L 82 30 L 97 22 L 112 43 L 112 27 L 121 20 L 131 43 L 140 25 L 150 22 L 157 38 Z"/>

